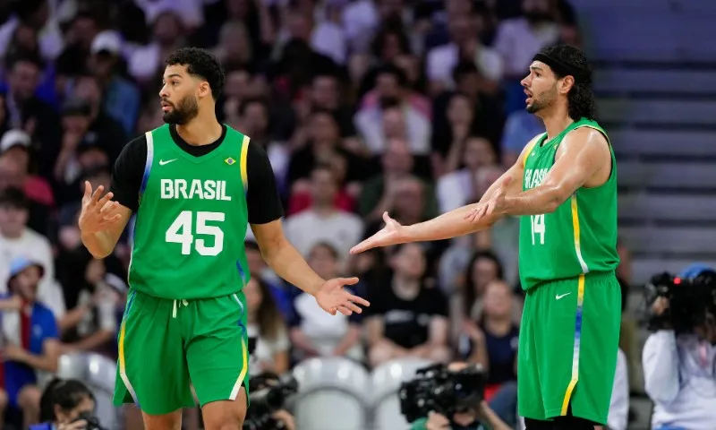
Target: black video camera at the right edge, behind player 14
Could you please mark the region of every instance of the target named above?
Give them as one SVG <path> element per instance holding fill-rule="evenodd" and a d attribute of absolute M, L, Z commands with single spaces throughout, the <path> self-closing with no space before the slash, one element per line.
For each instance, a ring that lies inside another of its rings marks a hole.
<path fill-rule="evenodd" d="M 646 285 L 644 296 L 649 309 L 659 297 L 669 300 L 663 314 L 650 313 L 649 330 L 693 331 L 706 321 L 707 314 L 716 314 L 716 272 L 703 271 L 692 279 L 659 273 Z"/>

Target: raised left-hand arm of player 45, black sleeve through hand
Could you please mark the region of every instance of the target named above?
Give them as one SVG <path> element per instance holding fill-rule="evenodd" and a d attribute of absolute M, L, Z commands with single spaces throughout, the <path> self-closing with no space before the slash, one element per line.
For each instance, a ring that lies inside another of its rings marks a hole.
<path fill-rule="evenodd" d="M 139 208 L 141 181 L 146 163 L 147 139 L 142 135 L 127 143 L 116 159 L 112 169 L 110 193 L 100 198 L 100 190 L 85 189 L 80 217 L 81 238 L 93 257 L 105 258 L 112 254 L 129 219 L 132 218 L 132 212 Z"/>

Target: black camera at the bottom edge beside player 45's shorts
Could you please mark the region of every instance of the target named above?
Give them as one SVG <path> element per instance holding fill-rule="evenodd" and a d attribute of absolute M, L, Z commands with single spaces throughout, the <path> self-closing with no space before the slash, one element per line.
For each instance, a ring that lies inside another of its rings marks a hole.
<path fill-rule="evenodd" d="M 272 416 L 284 408 L 286 399 L 298 391 L 298 382 L 293 376 L 279 378 L 277 374 L 259 374 L 249 382 L 249 410 L 243 420 L 243 430 L 280 430 L 284 423 Z"/>

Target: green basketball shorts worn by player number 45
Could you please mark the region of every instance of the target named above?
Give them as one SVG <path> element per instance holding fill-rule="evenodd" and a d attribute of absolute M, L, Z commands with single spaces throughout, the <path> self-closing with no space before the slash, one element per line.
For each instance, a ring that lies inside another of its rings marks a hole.
<path fill-rule="evenodd" d="M 115 405 L 149 415 L 248 395 L 249 351 L 243 293 L 170 300 L 132 289 L 119 331 Z"/>

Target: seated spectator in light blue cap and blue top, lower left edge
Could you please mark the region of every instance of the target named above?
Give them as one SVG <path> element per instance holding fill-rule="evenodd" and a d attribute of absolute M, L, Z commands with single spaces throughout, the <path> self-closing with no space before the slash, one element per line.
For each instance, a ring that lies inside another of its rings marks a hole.
<path fill-rule="evenodd" d="M 10 263 L 9 297 L 0 310 L 0 328 L 4 340 L 2 374 L 9 405 L 22 411 L 24 426 L 38 422 L 38 379 L 41 373 L 55 373 L 60 344 L 55 315 L 36 301 L 43 267 L 26 257 Z M 4 306 L 8 307 L 8 306 Z"/>

